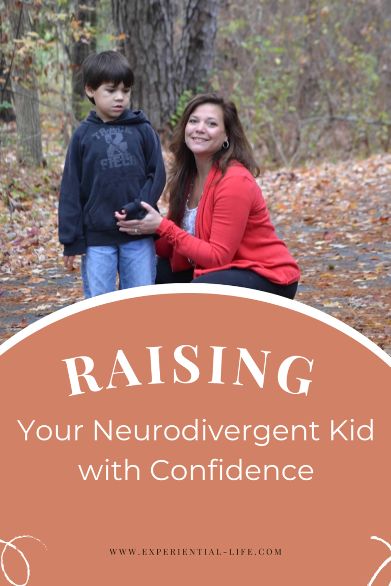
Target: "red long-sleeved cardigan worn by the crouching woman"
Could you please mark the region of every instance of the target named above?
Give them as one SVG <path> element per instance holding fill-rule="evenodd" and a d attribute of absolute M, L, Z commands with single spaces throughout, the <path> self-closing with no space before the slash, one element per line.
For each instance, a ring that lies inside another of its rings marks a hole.
<path fill-rule="evenodd" d="M 270 222 L 261 190 L 251 173 L 233 163 L 222 172 L 212 167 L 205 182 L 195 223 L 195 237 L 171 220 L 157 229 L 159 257 L 170 258 L 172 271 L 190 268 L 194 277 L 227 268 L 257 272 L 279 285 L 299 280 L 300 270 Z"/>

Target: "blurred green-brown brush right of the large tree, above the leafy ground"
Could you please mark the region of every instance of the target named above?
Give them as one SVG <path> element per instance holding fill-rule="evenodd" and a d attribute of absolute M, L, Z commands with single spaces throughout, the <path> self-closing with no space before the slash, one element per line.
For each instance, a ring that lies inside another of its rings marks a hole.
<path fill-rule="evenodd" d="M 357 0 L 245 0 L 222 11 L 212 87 L 274 165 L 390 146 L 391 29 Z"/>

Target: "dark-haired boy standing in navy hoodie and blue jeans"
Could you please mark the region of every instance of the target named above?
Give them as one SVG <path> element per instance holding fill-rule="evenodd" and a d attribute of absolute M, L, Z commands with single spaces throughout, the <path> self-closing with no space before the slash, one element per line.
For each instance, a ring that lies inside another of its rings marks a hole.
<path fill-rule="evenodd" d="M 59 202 L 59 238 L 64 265 L 82 254 L 81 278 L 86 299 L 120 289 L 152 285 L 156 260 L 151 236 L 120 232 L 116 211 L 141 219 L 161 196 L 165 168 L 158 135 L 140 110 L 131 112 L 134 76 L 120 53 L 87 57 L 83 86 L 96 105 L 72 136 Z"/>

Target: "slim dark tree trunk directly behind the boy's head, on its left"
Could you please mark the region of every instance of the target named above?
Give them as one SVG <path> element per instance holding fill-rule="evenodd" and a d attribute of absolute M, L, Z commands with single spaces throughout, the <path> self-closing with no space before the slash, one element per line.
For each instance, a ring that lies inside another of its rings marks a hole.
<path fill-rule="evenodd" d="M 86 23 L 89 23 L 94 28 L 96 28 L 97 24 L 96 0 L 86 0 L 82 6 L 83 8 L 78 5 L 76 11 L 76 21 L 80 22 L 80 38 L 75 39 L 70 52 L 72 61 L 72 110 L 74 119 L 78 122 L 85 118 L 88 103 L 81 83 L 80 68 L 84 60 L 96 51 L 96 37 L 93 36 L 87 40 L 82 31 Z M 93 10 L 88 10 L 84 6 Z"/>

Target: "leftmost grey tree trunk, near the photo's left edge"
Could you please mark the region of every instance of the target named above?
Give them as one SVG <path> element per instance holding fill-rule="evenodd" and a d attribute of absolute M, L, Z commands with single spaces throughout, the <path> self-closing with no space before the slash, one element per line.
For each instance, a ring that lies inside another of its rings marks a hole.
<path fill-rule="evenodd" d="M 32 30 L 27 5 L 5 0 L 9 10 L 12 37 L 21 39 Z M 16 127 L 18 128 L 18 158 L 31 165 L 42 162 L 42 138 L 40 132 L 38 86 L 33 69 L 33 57 L 29 53 L 16 56 L 11 71 Z"/>

